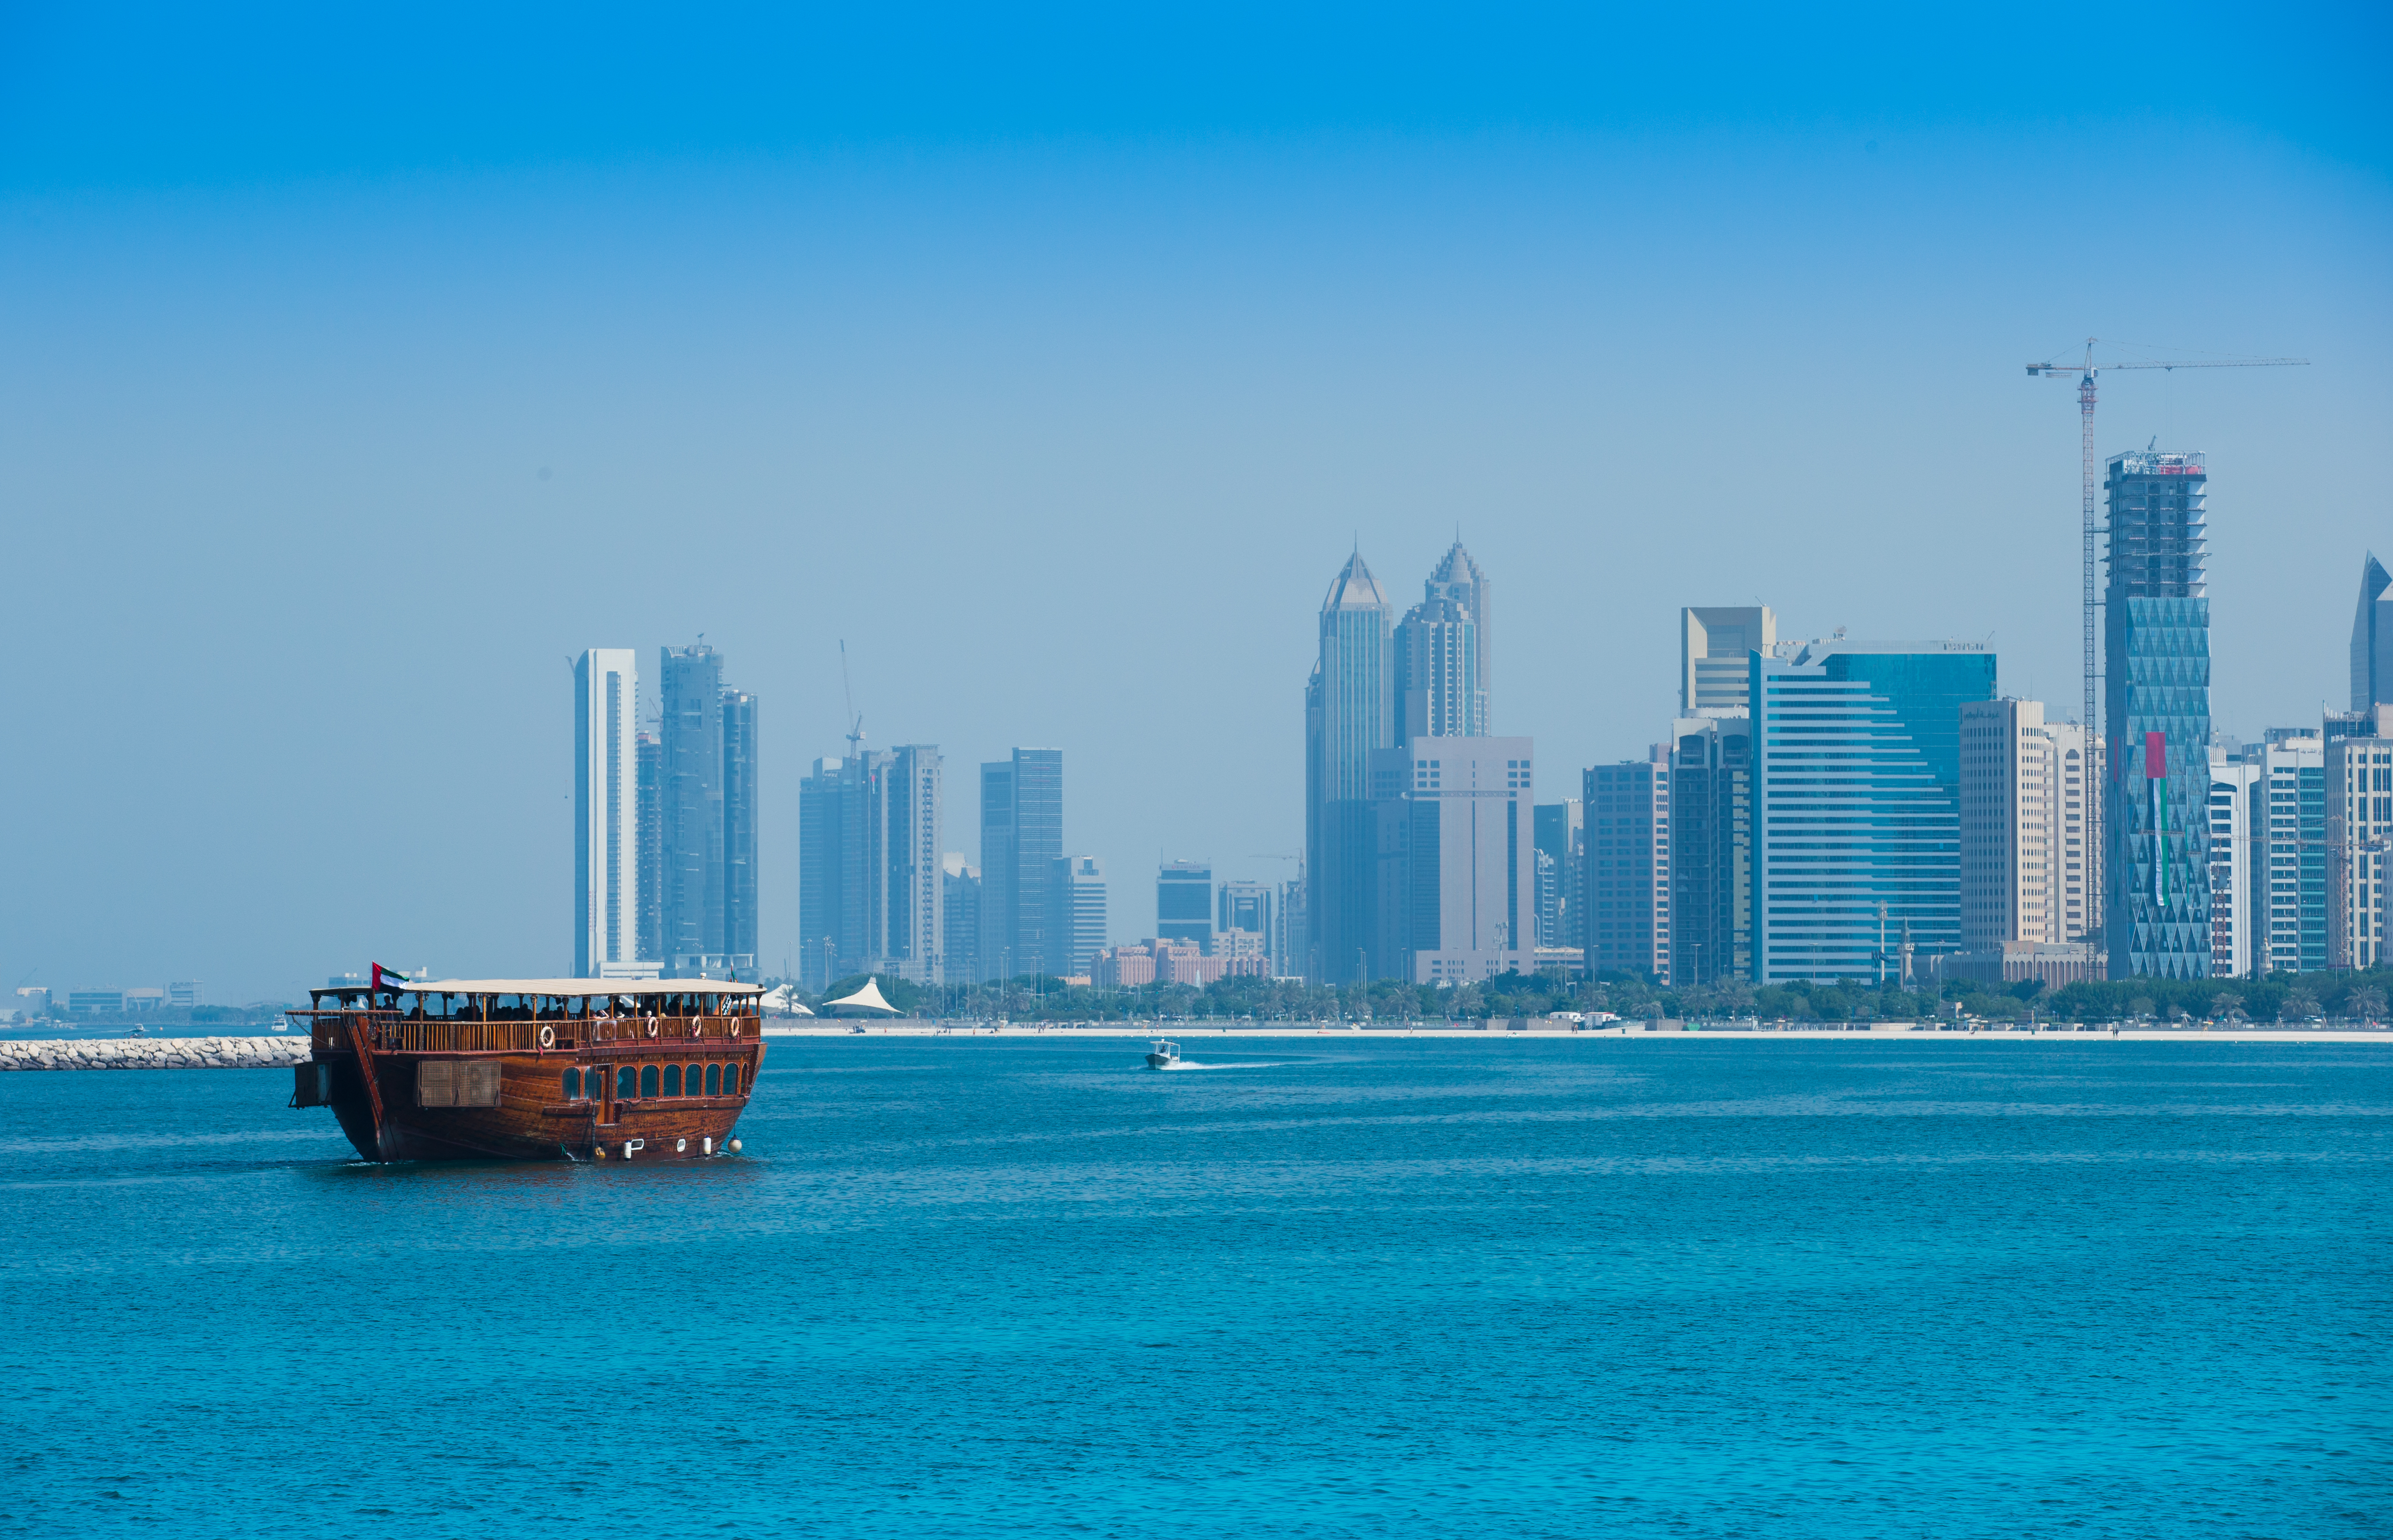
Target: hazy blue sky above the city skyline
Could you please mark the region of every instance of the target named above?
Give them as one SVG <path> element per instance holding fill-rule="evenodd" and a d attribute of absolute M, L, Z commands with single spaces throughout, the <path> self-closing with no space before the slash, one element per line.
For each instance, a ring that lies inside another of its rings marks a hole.
<path fill-rule="evenodd" d="M 2214 715 L 2393 552 L 2383 7 L 0 7 L 0 985 L 572 959 L 567 658 L 1065 751 L 1067 849 L 1280 878 L 1314 612 L 1460 526 L 1539 796 L 1677 605 L 2077 698 L 2087 335 L 2211 457 Z M 1139 14 L 1125 14 L 1139 10 Z"/>

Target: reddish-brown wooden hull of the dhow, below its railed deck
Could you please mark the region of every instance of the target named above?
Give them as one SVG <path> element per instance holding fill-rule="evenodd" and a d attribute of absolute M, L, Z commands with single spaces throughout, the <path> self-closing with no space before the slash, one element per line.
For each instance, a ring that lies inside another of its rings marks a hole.
<path fill-rule="evenodd" d="M 299 1105 L 325 1105 L 366 1160 L 708 1160 L 723 1155 L 747 1093 L 613 1095 L 617 1074 L 634 1083 L 663 1067 L 737 1067 L 754 1083 L 763 1043 L 625 1043 L 531 1052 L 373 1052 L 328 1050 L 297 1067 Z M 445 1067 L 431 1083 L 479 1074 L 488 1105 L 424 1105 L 426 1064 Z M 459 1069 L 481 1064 L 479 1071 Z M 488 1067 L 495 1064 L 495 1095 Z M 565 1071 L 598 1083 L 598 1098 L 565 1090 Z M 373 1086 L 369 1090 L 366 1076 Z"/>

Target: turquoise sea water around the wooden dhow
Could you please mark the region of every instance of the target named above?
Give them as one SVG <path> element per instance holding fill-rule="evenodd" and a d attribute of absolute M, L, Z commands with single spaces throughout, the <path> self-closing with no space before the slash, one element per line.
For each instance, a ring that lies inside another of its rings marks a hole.
<path fill-rule="evenodd" d="M 747 1155 L 0 1076 L 5 1535 L 2383 1535 L 2374 1045 L 775 1040 Z"/>

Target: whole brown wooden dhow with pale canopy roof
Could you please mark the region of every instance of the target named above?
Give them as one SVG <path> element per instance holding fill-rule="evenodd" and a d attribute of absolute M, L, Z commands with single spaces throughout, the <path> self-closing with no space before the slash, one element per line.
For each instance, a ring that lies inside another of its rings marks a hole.
<path fill-rule="evenodd" d="M 373 971 L 290 1012 L 292 1107 L 366 1160 L 711 1160 L 763 1064 L 759 983 Z"/>

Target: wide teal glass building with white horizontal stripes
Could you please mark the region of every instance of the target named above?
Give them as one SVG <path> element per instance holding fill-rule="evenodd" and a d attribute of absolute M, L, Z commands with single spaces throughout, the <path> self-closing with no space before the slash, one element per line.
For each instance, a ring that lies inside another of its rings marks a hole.
<path fill-rule="evenodd" d="M 1876 978 L 1905 928 L 1919 957 L 1960 949 L 1960 710 L 1993 698 L 1993 653 L 1776 653 L 1752 660 L 1754 980 Z"/>

